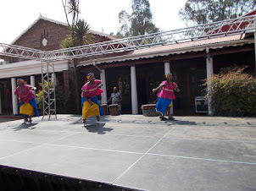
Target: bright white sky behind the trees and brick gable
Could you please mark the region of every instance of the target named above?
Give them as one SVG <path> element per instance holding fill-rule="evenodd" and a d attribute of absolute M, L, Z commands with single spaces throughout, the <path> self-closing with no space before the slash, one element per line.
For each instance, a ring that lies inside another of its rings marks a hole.
<path fill-rule="evenodd" d="M 92 30 L 110 34 L 120 27 L 118 14 L 126 10 L 131 14 L 131 0 L 80 0 L 81 19 Z M 175 30 L 185 27 L 178 12 L 186 0 L 149 0 L 153 23 L 160 30 Z M 62 0 L 8 0 L 1 2 L 0 42 L 10 44 L 39 16 L 66 23 Z"/>

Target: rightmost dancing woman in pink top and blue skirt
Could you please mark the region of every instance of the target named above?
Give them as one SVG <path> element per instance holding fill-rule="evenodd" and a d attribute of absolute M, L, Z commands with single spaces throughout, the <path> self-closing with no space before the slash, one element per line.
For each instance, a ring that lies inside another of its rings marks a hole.
<path fill-rule="evenodd" d="M 174 91 L 180 92 L 180 89 L 178 88 L 178 85 L 172 81 L 172 74 L 165 74 L 165 78 L 166 80 L 163 81 L 159 87 L 153 89 L 153 92 L 159 91 L 157 94 L 159 100 L 157 102 L 156 111 L 159 112 L 160 118 L 164 119 L 164 112 L 167 109 L 169 119 L 173 120 L 174 117 L 172 117 L 170 114 L 171 101 L 175 100 Z"/>

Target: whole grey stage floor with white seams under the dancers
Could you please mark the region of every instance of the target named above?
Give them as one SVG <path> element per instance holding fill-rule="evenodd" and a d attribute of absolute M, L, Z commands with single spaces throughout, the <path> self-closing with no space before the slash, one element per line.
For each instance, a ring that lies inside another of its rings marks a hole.
<path fill-rule="evenodd" d="M 70 177 L 98 183 L 98 190 L 256 190 L 255 117 L 121 115 L 101 122 L 92 117 L 81 127 L 81 116 L 58 115 L 0 123 L 1 172 L 10 166 Z"/>

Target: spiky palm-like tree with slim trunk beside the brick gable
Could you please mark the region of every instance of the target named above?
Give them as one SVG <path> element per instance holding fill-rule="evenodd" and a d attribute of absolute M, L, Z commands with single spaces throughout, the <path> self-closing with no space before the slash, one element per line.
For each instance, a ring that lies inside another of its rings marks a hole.
<path fill-rule="evenodd" d="M 68 2 L 67 2 L 68 1 Z M 93 35 L 90 32 L 90 25 L 83 19 L 79 19 L 80 9 L 79 0 L 62 0 L 64 13 L 66 15 L 67 23 L 70 28 L 70 35 L 64 41 L 61 42 L 62 48 L 68 48 L 72 46 L 81 46 L 88 43 L 92 43 Z M 71 15 L 71 25 L 68 15 Z M 74 66 L 74 79 L 75 79 L 75 112 L 78 114 L 81 112 L 80 104 L 80 92 L 78 88 L 78 77 L 77 77 L 77 58 L 73 59 Z"/>

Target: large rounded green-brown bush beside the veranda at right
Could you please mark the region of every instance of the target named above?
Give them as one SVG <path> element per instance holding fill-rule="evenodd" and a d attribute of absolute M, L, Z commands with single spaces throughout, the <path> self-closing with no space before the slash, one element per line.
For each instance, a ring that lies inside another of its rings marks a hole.
<path fill-rule="evenodd" d="M 256 117 L 256 78 L 244 69 L 215 74 L 204 83 L 214 116 Z"/>

